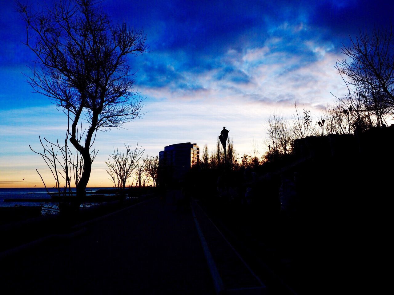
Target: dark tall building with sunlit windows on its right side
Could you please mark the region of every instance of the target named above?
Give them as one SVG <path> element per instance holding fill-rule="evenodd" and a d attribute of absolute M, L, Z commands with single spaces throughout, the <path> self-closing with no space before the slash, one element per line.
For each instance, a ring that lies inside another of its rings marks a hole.
<path fill-rule="evenodd" d="M 200 149 L 191 142 L 171 144 L 159 152 L 159 181 L 177 184 L 188 170 L 199 161 Z"/>

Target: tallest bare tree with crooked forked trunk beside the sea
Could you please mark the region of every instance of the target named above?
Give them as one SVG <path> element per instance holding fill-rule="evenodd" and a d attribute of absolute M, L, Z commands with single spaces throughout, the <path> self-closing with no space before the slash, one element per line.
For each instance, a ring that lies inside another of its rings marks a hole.
<path fill-rule="evenodd" d="M 28 82 L 72 116 L 69 141 L 83 158 L 76 185 L 78 199 L 83 198 L 97 130 L 140 116 L 143 99 L 130 90 L 134 74 L 128 56 L 146 51 L 145 35 L 125 23 L 113 24 L 96 0 L 59 0 L 35 10 L 18 2 L 17 10 L 26 23 L 25 44 L 37 57 Z M 76 129 L 82 119 L 89 127 L 80 142 Z"/>

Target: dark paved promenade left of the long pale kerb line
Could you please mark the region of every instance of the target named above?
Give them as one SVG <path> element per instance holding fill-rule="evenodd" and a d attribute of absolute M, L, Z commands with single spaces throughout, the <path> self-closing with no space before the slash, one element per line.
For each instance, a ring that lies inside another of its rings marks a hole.
<path fill-rule="evenodd" d="M 190 208 L 155 198 L 5 258 L 7 294 L 214 294 Z M 3 293 L 3 294 L 6 294 Z"/>

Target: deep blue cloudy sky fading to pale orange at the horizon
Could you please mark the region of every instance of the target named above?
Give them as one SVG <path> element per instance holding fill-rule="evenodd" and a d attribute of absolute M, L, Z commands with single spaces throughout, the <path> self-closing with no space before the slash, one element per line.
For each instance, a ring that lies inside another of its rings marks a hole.
<path fill-rule="evenodd" d="M 40 4 L 43 0 L 29 0 Z M 223 126 L 234 148 L 260 154 L 268 117 L 291 116 L 294 103 L 319 118 L 347 89 L 335 70 L 349 36 L 392 22 L 392 1 L 132 1 L 103 0 L 114 22 L 147 35 L 149 52 L 130 57 L 134 91 L 145 97 L 143 118 L 98 132 L 88 186 L 112 186 L 105 161 L 124 144 L 158 155 L 180 142 L 208 144 Z M 34 57 L 13 2 L 0 0 L 0 187 L 42 187 L 54 181 L 39 136 L 64 140 L 67 118 L 32 93 L 26 76 Z M 24 179 L 24 180 L 22 180 Z"/>

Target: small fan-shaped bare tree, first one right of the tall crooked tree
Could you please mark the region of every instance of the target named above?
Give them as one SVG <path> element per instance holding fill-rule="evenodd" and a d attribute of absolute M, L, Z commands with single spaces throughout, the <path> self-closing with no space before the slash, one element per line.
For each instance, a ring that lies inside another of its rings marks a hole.
<path fill-rule="evenodd" d="M 117 188 L 125 189 L 127 180 L 133 175 L 136 163 L 141 159 L 145 150 L 141 151 L 141 147 L 136 145 L 133 150 L 129 144 L 125 144 L 126 153 L 119 152 L 119 148 L 113 148 L 113 153 L 110 155 L 108 162 L 105 162 L 108 166 L 107 173 L 110 175 L 110 180 Z"/>

